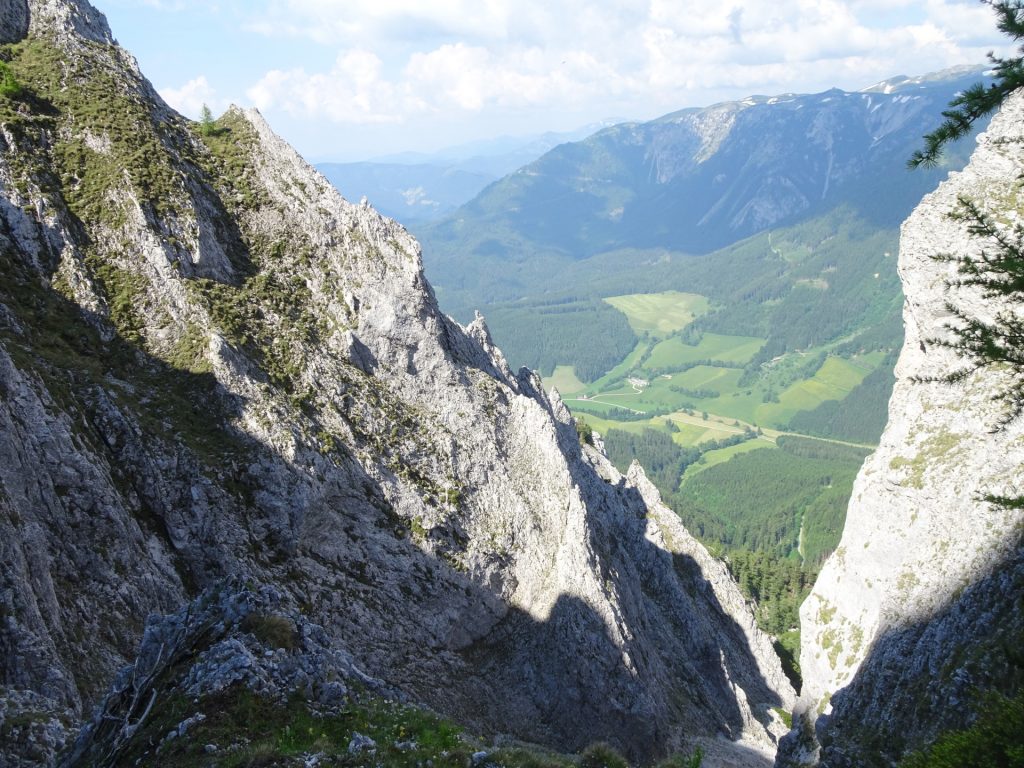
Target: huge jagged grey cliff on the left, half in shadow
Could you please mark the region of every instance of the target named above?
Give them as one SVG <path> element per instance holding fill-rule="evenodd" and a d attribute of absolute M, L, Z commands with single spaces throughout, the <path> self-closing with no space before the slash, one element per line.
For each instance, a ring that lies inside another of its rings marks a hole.
<path fill-rule="evenodd" d="M 0 97 L 7 762 L 50 761 L 146 617 L 229 581 L 315 628 L 290 652 L 340 654 L 332 669 L 480 731 L 638 758 L 702 741 L 712 765 L 764 764 L 792 690 L 736 586 L 641 472 L 620 475 L 557 393 L 509 370 L 482 319 L 438 310 L 417 243 L 258 114 L 205 130 L 175 114 L 84 0 L 14 6 L 0 17 L 23 86 Z M 182 622 L 167 636 L 193 637 Z M 141 695 L 125 685 L 108 708 Z"/>

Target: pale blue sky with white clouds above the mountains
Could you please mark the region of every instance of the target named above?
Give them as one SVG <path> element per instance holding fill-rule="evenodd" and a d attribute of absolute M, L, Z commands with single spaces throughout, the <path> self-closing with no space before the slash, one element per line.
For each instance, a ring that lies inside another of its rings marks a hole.
<path fill-rule="evenodd" d="M 649 120 L 982 63 L 979 0 L 92 0 L 164 98 L 312 162 Z"/>

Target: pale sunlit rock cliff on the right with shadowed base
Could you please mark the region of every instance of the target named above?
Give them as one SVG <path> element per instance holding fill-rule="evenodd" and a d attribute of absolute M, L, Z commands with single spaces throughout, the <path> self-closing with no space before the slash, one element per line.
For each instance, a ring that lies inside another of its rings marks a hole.
<path fill-rule="evenodd" d="M 983 500 L 1024 494 L 1024 423 L 999 426 L 1005 371 L 936 379 L 967 365 L 941 344 L 953 340 L 951 307 L 988 323 L 1019 316 L 1019 306 L 955 285 L 956 264 L 941 257 L 993 252 L 971 232 L 965 200 L 1013 237 L 1022 127 L 1017 93 L 965 171 L 903 225 L 906 343 L 889 423 L 857 478 L 840 547 L 801 608 L 805 722 L 780 765 L 891 765 L 970 723 L 984 692 L 1020 685 L 1024 515 Z"/>

